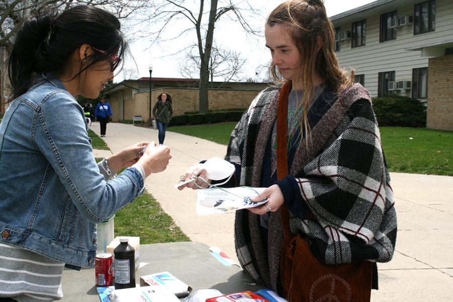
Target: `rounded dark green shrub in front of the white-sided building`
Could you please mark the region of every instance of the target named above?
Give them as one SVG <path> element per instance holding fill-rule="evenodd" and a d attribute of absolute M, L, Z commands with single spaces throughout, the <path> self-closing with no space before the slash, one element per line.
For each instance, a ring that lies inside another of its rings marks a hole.
<path fill-rule="evenodd" d="M 417 99 L 390 95 L 372 104 L 379 126 L 426 127 L 426 107 Z"/>

